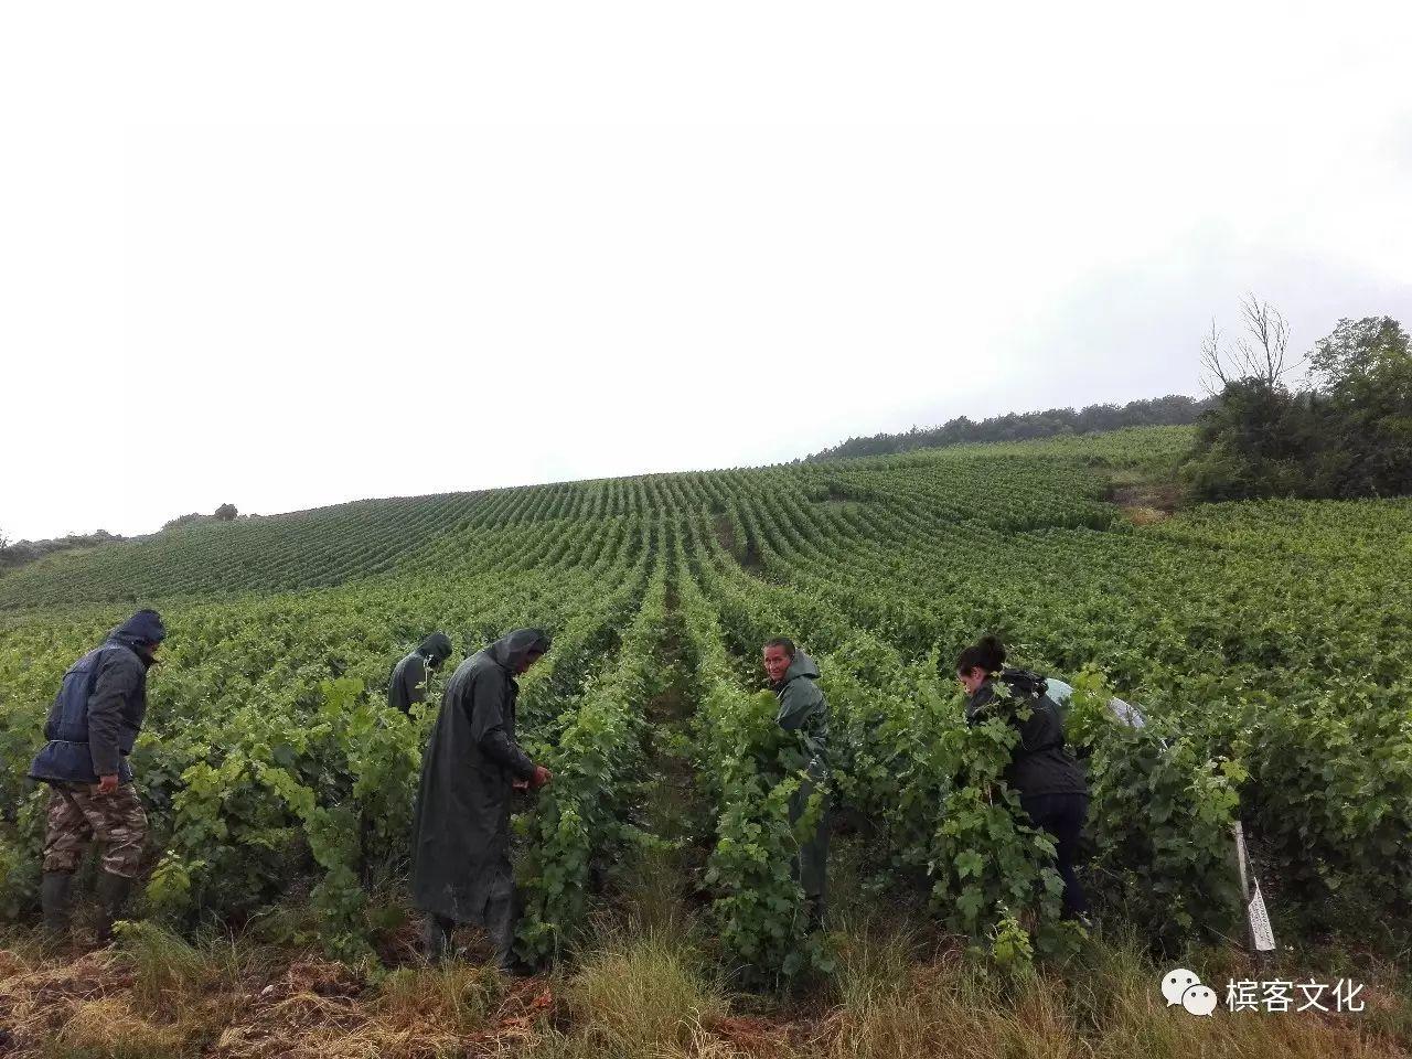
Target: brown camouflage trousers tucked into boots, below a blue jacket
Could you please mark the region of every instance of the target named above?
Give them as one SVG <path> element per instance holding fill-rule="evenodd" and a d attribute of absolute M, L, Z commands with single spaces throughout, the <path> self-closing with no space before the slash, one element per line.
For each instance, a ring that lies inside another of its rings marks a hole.
<path fill-rule="evenodd" d="M 78 871 L 83 850 L 97 839 L 103 844 L 103 871 L 137 878 L 147 839 L 147 813 L 131 784 L 112 794 L 95 794 L 95 784 L 51 784 L 48 832 L 44 837 L 45 871 Z"/>

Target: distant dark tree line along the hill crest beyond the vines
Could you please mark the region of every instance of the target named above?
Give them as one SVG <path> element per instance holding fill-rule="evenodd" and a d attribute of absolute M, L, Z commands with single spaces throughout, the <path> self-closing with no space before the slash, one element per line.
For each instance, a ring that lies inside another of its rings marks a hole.
<path fill-rule="evenodd" d="M 1077 412 L 1073 408 L 1049 408 L 1042 412 L 1010 412 L 979 422 L 962 415 L 928 429 L 914 426 L 907 433 L 849 438 L 842 445 L 816 452 L 808 462 L 939 449 L 964 442 L 1029 441 L 1065 433 L 1093 433 L 1124 426 L 1185 426 L 1196 422 L 1197 417 L 1211 407 L 1214 398 L 1202 401 L 1171 394 L 1149 401 L 1130 401 L 1124 405 L 1091 404 Z"/>

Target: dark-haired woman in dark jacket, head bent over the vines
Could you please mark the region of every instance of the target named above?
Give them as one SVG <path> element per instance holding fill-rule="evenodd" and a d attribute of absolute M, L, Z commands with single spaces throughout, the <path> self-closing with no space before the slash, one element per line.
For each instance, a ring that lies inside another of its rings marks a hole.
<path fill-rule="evenodd" d="M 1019 805 L 1035 826 L 1053 836 L 1059 874 L 1063 877 L 1065 919 L 1086 916 L 1089 901 L 1073 863 L 1089 815 L 1089 785 L 1065 748 L 1063 723 L 1045 692 L 1045 678 L 1027 669 L 1007 669 L 1005 648 L 995 637 L 984 637 L 962 651 L 956 659 L 956 675 L 969 696 L 969 724 L 980 724 L 994 716 L 1004 717 L 1019 731 L 1005 782 L 1019 792 Z M 1018 707 L 1027 707 L 1029 716 L 1021 719 Z"/>

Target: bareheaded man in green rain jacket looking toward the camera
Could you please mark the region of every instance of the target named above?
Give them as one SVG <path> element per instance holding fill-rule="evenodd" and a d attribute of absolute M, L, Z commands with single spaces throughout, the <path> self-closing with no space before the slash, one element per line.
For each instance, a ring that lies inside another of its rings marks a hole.
<path fill-rule="evenodd" d="M 827 777 L 829 703 L 815 681 L 819 666 L 794 641 L 775 637 L 764 647 L 765 674 L 779 700 L 777 722 L 798 740 L 798 767 L 806 778 L 789 799 L 789 822 L 803 816 L 815 786 Z M 826 809 L 827 806 L 825 806 Z M 809 929 L 823 925 L 823 881 L 829 860 L 829 830 L 819 812 L 813 837 L 799 846 L 799 885 L 809 905 Z"/>

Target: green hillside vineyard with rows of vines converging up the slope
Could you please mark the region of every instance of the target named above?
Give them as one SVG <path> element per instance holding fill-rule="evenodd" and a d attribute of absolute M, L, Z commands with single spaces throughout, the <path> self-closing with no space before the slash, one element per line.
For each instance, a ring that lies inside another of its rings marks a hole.
<path fill-rule="evenodd" d="M 1000 774 L 1012 730 L 967 729 L 952 666 L 994 631 L 1076 688 L 1106 914 L 1151 936 L 1238 933 L 1237 815 L 1288 901 L 1412 902 L 1412 501 L 1217 504 L 1135 527 L 1115 473 L 1182 428 L 758 470 L 360 501 L 196 525 L 0 578 L 0 898 L 38 878 L 24 778 L 68 665 L 137 603 L 169 640 L 133 755 L 151 809 L 145 901 L 196 922 L 308 898 L 319 939 L 367 952 L 405 874 L 435 713 L 383 702 L 433 628 L 457 658 L 518 626 L 554 635 L 520 730 L 556 775 L 517 818 L 527 950 L 558 955 L 614 866 L 702 850 L 693 892 L 733 966 L 820 966 L 789 863 L 799 782 L 760 696 L 760 645 L 819 661 L 833 812 L 866 822 L 880 885 L 919 887 L 976 936 L 1007 916 L 1062 946 L 1049 840 Z M 448 666 L 448 671 L 452 666 Z M 689 706 L 707 808 L 654 832 L 648 703 Z M 1139 703 L 1130 729 L 1111 695 Z M 808 820 L 802 823 L 808 826 Z"/>

